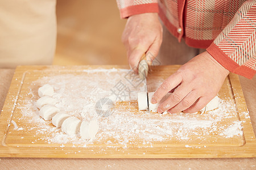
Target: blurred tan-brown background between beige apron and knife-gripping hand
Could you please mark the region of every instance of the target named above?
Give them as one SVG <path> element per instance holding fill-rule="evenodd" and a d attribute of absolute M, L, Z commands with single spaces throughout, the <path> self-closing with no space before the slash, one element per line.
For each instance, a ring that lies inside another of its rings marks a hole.
<path fill-rule="evenodd" d="M 57 1 L 53 65 L 127 65 L 121 42 L 126 20 L 112 1 Z"/>

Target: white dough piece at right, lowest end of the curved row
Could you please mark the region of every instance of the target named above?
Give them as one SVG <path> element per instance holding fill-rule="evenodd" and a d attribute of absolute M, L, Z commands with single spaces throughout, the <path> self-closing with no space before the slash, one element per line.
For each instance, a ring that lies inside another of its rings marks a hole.
<path fill-rule="evenodd" d="M 80 126 L 80 135 L 82 139 L 93 139 L 95 138 L 98 132 L 98 122 L 96 120 L 92 120 L 88 122 L 82 122 Z"/>

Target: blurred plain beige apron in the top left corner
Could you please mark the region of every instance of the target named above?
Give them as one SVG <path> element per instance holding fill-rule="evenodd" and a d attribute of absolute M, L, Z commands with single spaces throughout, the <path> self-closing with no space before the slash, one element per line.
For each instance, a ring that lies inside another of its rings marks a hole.
<path fill-rule="evenodd" d="M 0 0 L 0 67 L 52 63 L 55 11 L 56 0 Z"/>

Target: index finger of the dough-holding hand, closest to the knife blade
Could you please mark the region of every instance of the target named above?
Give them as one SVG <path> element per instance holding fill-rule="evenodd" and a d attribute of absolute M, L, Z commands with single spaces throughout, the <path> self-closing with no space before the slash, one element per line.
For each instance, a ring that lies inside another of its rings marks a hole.
<path fill-rule="evenodd" d="M 152 96 L 151 103 L 156 104 L 173 88 L 177 87 L 182 81 L 179 74 L 174 73 L 169 76 L 164 82 L 158 87 L 155 94 Z"/>

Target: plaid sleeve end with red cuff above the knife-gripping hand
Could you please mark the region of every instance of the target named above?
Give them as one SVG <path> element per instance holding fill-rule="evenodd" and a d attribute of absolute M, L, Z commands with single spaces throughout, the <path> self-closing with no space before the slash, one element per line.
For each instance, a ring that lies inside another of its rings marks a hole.
<path fill-rule="evenodd" d="M 121 18 L 148 12 L 158 12 L 158 0 L 117 0 Z"/>

